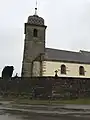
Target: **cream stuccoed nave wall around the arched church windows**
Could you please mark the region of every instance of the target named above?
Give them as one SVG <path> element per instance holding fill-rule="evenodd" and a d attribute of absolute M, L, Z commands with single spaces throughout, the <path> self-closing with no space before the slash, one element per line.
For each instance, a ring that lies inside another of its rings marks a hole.
<path fill-rule="evenodd" d="M 58 76 L 66 76 L 66 77 L 90 77 L 90 64 L 77 64 L 77 63 L 65 63 L 65 62 L 52 62 L 52 61 L 44 61 L 44 70 L 43 76 L 54 76 L 55 70 L 58 70 Z M 61 74 L 60 66 L 64 64 L 67 68 L 67 74 Z M 79 75 L 79 67 L 83 66 L 85 69 L 85 76 Z"/>

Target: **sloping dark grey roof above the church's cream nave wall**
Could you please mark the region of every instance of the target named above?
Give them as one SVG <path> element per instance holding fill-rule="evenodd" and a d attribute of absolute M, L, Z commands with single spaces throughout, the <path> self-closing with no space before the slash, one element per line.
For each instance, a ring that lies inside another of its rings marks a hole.
<path fill-rule="evenodd" d="M 90 52 L 81 51 L 73 52 L 66 50 L 58 50 L 52 48 L 46 48 L 45 58 L 47 60 L 67 61 L 67 62 L 79 62 L 90 64 Z"/>

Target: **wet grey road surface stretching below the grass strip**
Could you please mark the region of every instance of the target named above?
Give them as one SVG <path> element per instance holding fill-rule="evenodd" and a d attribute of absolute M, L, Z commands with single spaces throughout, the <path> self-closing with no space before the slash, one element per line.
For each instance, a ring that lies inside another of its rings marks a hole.
<path fill-rule="evenodd" d="M 8 103 L 5 102 L 4 105 L 6 106 Z M 60 109 L 60 106 L 56 106 L 57 112 L 55 113 L 55 106 L 54 111 L 51 109 L 52 107 L 45 107 L 45 106 L 26 106 L 27 110 L 24 108 L 25 106 L 18 107 L 22 109 L 21 111 L 15 108 L 7 109 L 7 107 L 0 106 L 0 120 L 90 120 L 90 106 L 80 106 L 80 105 L 65 105 L 65 108 L 79 108 L 79 109 L 87 109 L 85 111 L 71 111 L 71 110 L 64 110 Z M 39 108 L 40 107 L 40 108 Z M 3 109 L 4 108 L 4 109 Z M 42 109 L 42 110 L 41 110 Z M 31 111 L 33 112 L 31 112 Z M 50 113 L 50 110 L 52 113 Z M 46 113 L 44 114 L 44 112 Z M 66 112 L 66 114 L 65 114 Z M 58 114 L 57 114 L 58 113 Z M 84 114 L 85 113 L 85 114 Z"/>

